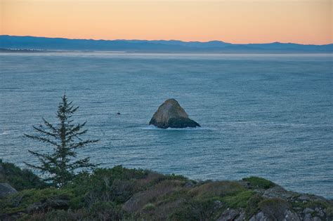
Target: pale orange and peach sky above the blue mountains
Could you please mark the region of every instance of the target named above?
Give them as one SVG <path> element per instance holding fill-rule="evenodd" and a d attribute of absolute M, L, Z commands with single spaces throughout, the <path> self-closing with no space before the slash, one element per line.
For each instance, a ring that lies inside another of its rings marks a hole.
<path fill-rule="evenodd" d="M 0 34 L 333 43 L 333 0 L 0 0 Z"/>

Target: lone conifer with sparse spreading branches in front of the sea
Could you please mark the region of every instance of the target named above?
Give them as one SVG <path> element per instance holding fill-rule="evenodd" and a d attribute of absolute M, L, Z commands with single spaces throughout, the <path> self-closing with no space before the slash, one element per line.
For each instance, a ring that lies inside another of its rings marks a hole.
<path fill-rule="evenodd" d="M 63 95 L 62 101 L 58 106 L 58 123 L 53 125 L 43 118 L 44 124 L 39 127 L 33 126 L 37 135 L 27 135 L 27 138 L 44 142 L 53 147 L 51 153 L 39 153 L 29 150 L 30 154 L 37 156 L 40 165 L 35 166 L 25 163 L 27 166 L 41 171 L 46 176 L 46 181 L 51 182 L 56 187 L 63 187 L 76 175 L 77 169 L 93 168 L 96 165 L 89 163 L 89 157 L 76 159 L 77 149 L 86 147 L 98 140 L 81 140 L 80 135 L 84 135 L 87 130 L 82 128 L 84 123 L 74 124 L 72 114 L 79 107 L 74 107 L 72 102 L 68 102 L 66 95 Z"/>

